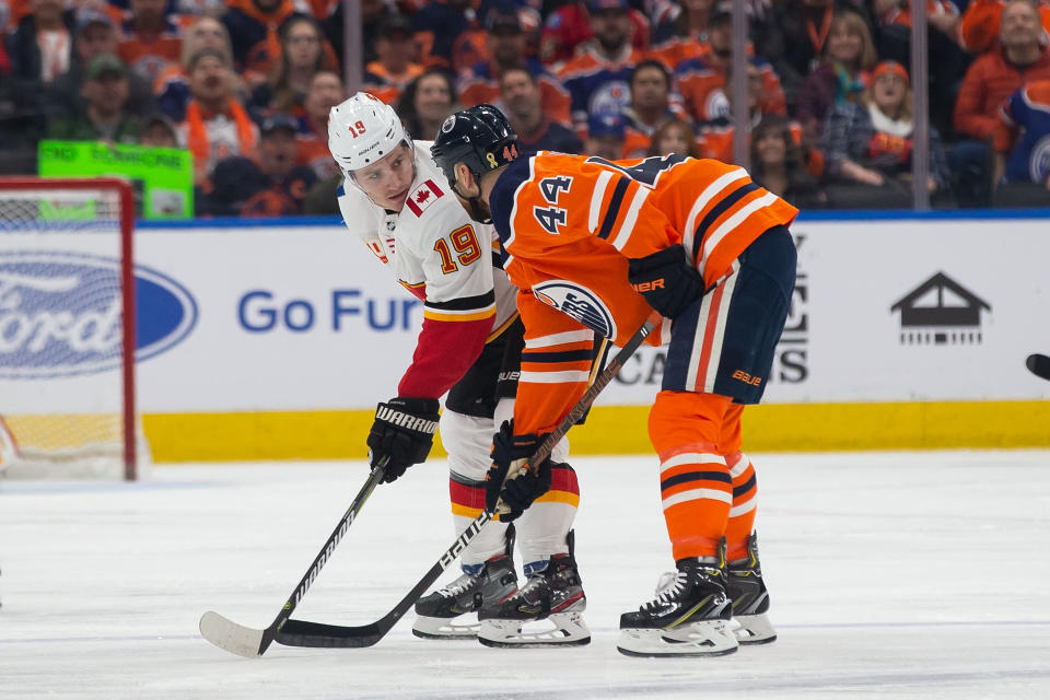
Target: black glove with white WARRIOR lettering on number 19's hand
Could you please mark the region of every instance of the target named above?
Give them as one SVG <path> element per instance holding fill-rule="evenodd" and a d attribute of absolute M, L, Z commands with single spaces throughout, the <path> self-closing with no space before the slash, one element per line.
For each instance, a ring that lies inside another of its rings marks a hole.
<path fill-rule="evenodd" d="M 413 464 L 427 460 L 438 430 L 438 399 L 392 398 L 375 407 L 375 421 L 368 445 L 372 465 L 386 462 L 383 483 L 405 474 Z"/>

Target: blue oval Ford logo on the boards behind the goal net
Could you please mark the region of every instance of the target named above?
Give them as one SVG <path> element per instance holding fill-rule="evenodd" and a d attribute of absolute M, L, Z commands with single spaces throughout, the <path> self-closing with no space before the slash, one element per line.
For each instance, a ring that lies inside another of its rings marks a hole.
<path fill-rule="evenodd" d="M 175 280 L 136 267 L 136 360 L 182 341 L 197 304 Z M 79 253 L 0 259 L 0 377 L 37 380 L 114 370 L 121 358 L 120 265 Z"/>

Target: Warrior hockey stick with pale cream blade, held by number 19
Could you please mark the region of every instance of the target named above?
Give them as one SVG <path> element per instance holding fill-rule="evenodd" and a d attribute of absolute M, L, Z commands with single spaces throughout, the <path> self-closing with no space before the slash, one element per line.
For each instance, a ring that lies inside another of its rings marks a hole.
<path fill-rule="evenodd" d="M 370 454 L 369 457 L 372 455 Z M 219 615 L 218 612 L 208 611 L 205 612 L 200 618 L 200 633 L 209 642 L 218 646 L 219 649 L 224 649 L 228 652 L 233 654 L 240 654 L 242 656 L 247 656 L 248 658 L 254 658 L 256 656 L 261 656 L 266 649 L 273 641 L 273 638 L 278 634 L 281 627 L 288 622 L 288 619 L 292 616 L 292 611 L 295 609 L 295 606 L 299 605 L 299 602 L 303 599 L 303 596 L 306 595 L 306 591 L 314 583 L 314 580 L 317 578 L 317 574 L 320 573 L 320 569 L 328 562 L 328 559 L 331 557 L 331 552 L 336 549 L 336 545 L 339 544 L 339 540 L 342 539 L 342 536 L 347 534 L 347 529 L 350 527 L 350 524 L 353 523 L 353 518 L 357 517 L 358 513 L 364 506 L 364 502 L 369 500 L 369 497 L 372 495 L 372 491 L 375 490 L 375 487 L 383 480 L 383 472 L 386 468 L 386 459 L 381 464 L 372 467 L 372 474 L 369 475 L 368 481 L 364 482 L 364 486 L 361 487 L 361 490 L 358 491 L 358 495 L 354 497 L 353 502 L 350 504 L 350 508 L 347 509 L 347 512 L 339 518 L 339 524 L 336 525 L 336 529 L 332 530 L 331 535 L 328 536 L 328 541 L 325 542 L 325 546 L 320 548 L 320 551 L 317 552 L 317 556 L 314 557 L 314 563 L 310 565 L 310 569 L 306 571 L 306 575 L 303 576 L 302 581 L 299 582 L 299 585 L 295 586 L 295 590 L 292 592 L 292 595 L 289 596 L 288 600 L 284 603 L 284 607 L 281 608 L 281 611 L 277 614 L 277 617 L 265 630 L 257 630 L 250 627 L 244 627 L 243 625 L 237 625 L 233 620 Z"/>

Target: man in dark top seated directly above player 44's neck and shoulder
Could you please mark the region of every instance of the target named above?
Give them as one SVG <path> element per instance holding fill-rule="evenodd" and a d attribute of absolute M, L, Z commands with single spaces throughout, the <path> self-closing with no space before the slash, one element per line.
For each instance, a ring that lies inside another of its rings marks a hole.
<path fill-rule="evenodd" d="M 500 77 L 500 102 L 517 132 L 524 151 L 580 153 L 583 142 L 576 132 L 561 125 L 544 109 L 540 88 L 525 68 L 509 68 Z"/>

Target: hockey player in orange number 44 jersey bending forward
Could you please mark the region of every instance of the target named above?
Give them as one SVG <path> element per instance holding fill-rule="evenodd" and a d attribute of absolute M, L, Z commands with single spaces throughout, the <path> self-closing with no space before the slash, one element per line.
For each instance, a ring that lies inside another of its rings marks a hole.
<path fill-rule="evenodd" d="M 783 330 L 797 210 L 718 161 L 521 154 L 490 105 L 451 116 L 432 153 L 471 218 L 494 224 L 525 324 L 514 420 L 493 439 L 488 505 L 513 518 L 545 492 L 549 464 L 525 465 L 585 390 L 576 337 L 591 329 L 622 345 L 655 308 L 669 323 L 651 339 L 669 345 L 649 434 L 677 574 L 621 617 L 618 648 L 716 655 L 775 639 L 740 413 L 761 398 Z"/>

